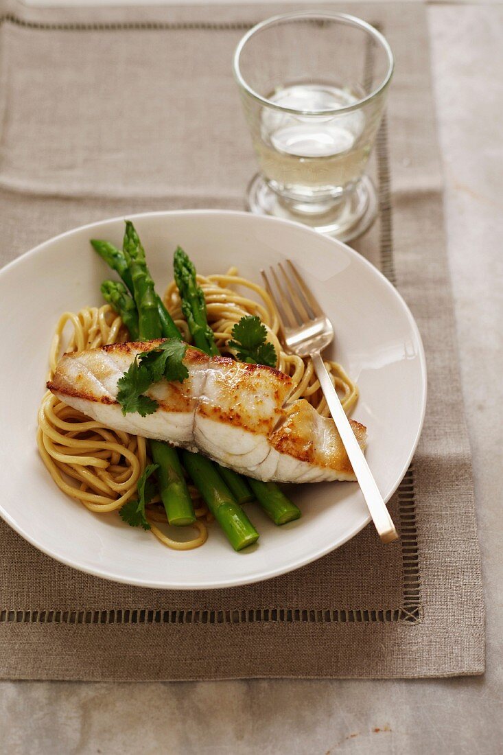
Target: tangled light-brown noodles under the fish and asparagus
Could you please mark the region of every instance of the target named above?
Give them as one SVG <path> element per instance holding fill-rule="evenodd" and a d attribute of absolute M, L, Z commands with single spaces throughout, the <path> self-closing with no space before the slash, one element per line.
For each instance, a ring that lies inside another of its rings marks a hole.
<path fill-rule="evenodd" d="M 208 323 L 214 331 L 221 353 L 233 354 L 228 347 L 231 331 L 236 322 L 246 315 L 257 315 L 267 328 L 267 338 L 278 354 L 276 367 L 289 374 L 295 385 L 291 399 L 304 398 L 323 417 L 329 408 L 319 387 L 310 359 L 301 359 L 285 353 L 279 342 L 279 319 L 269 294 L 260 285 L 241 278 L 235 267 L 225 275 L 197 276 L 205 294 Z M 243 291 L 240 293 L 240 291 Z M 255 298 L 251 295 L 255 294 Z M 165 291 L 165 304 L 187 343 L 191 342 L 187 322 L 181 310 L 181 300 L 174 282 Z M 65 312 L 57 322 L 49 351 L 50 379 L 63 351 L 65 331 L 69 331 L 65 353 L 95 349 L 106 344 L 126 341 L 128 331 L 122 319 L 109 304 L 103 307 L 85 307 L 79 313 Z M 341 396 L 348 413 L 358 399 L 358 388 L 338 362 L 325 362 L 332 384 Z M 80 411 L 57 399 L 50 391 L 45 393 L 39 408 L 37 445 L 42 461 L 56 485 L 66 495 L 80 501 L 95 513 L 119 510 L 137 495 L 137 482 L 150 463 L 147 442 L 144 438 L 110 430 L 100 422 L 90 420 Z M 156 523 L 167 523 L 159 496 L 147 505 L 150 531 L 162 544 L 174 550 L 190 550 L 205 543 L 208 522 L 213 517 L 193 485 L 189 485 L 196 522 L 185 531 L 196 529 L 197 535 L 187 541 L 170 538 Z"/>

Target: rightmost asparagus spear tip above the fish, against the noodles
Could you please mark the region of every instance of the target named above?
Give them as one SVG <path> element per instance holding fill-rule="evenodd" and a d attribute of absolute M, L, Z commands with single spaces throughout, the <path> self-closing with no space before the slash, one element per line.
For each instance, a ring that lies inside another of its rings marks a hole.
<path fill-rule="evenodd" d="M 174 252 L 173 267 L 174 280 L 180 291 L 182 312 L 194 344 L 210 356 L 218 356 L 220 352 L 206 317 L 205 295 L 197 285 L 196 268 L 181 247 Z"/>

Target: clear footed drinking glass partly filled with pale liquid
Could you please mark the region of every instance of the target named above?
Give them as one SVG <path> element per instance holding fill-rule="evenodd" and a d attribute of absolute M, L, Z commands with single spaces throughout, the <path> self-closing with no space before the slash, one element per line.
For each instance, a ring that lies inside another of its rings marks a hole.
<path fill-rule="evenodd" d="M 276 16 L 245 34 L 233 73 L 260 168 L 248 208 L 343 241 L 364 233 L 378 207 L 364 171 L 393 74 L 384 36 L 347 14 Z"/>

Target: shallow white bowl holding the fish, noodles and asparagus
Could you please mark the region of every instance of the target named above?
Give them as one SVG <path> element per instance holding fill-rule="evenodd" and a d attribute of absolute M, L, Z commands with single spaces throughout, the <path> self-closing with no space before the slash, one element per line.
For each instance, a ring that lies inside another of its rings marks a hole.
<path fill-rule="evenodd" d="M 336 356 L 360 386 L 354 418 L 368 427 L 367 459 L 388 500 L 418 443 L 426 402 L 421 337 L 400 294 L 370 263 L 340 242 L 297 223 L 223 211 L 132 216 L 162 291 L 176 245 L 201 273 L 259 270 L 290 257 L 332 319 Z M 339 547 L 369 522 L 356 483 L 292 486 L 302 518 L 275 527 L 255 506 L 248 513 L 258 544 L 235 553 L 216 524 L 196 550 L 168 550 L 116 514 L 92 514 L 54 485 L 35 446 L 48 348 L 64 310 L 100 304 L 110 271 L 89 239 L 122 242 L 122 218 L 77 228 L 38 246 L 0 273 L 3 325 L 0 514 L 48 555 L 100 577 L 146 587 L 199 589 L 264 580 L 298 569 Z M 385 547 L 385 546 L 383 546 Z"/>

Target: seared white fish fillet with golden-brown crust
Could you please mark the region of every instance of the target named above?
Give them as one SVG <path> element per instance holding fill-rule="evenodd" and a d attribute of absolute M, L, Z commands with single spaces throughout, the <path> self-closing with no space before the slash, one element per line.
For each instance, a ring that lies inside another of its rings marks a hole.
<path fill-rule="evenodd" d="M 159 403 L 153 414 L 123 416 L 117 381 L 135 356 L 162 341 L 113 344 L 65 354 L 48 388 L 61 401 L 114 430 L 165 440 L 264 481 L 355 479 L 330 418 L 305 399 L 288 402 L 292 379 L 264 365 L 209 357 L 187 348 L 183 381 L 160 381 L 147 390 Z M 350 421 L 361 448 L 366 428 Z"/>

